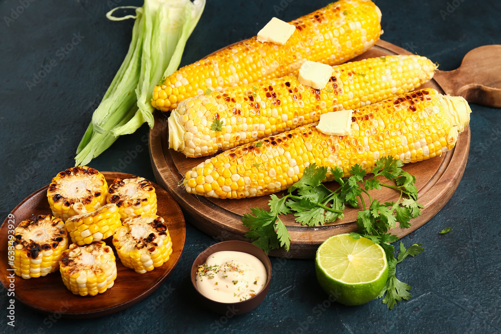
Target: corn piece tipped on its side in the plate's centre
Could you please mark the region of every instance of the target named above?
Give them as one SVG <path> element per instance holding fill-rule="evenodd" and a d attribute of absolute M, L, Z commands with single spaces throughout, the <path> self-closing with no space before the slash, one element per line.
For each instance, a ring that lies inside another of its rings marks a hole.
<path fill-rule="evenodd" d="M 106 239 L 122 225 L 115 204 L 106 204 L 96 211 L 71 217 L 65 222 L 71 241 L 79 246 Z"/>

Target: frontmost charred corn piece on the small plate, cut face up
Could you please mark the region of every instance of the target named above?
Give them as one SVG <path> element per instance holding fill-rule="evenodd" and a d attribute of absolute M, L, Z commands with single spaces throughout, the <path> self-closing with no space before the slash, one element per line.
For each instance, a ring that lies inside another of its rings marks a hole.
<path fill-rule="evenodd" d="M 64 285 L 81 296 L 103 293 L 117 278 L 115 255 L 104 241 L 85 246 L 72 243 L 70 249 L 63 252 L 59 263 Z"/>

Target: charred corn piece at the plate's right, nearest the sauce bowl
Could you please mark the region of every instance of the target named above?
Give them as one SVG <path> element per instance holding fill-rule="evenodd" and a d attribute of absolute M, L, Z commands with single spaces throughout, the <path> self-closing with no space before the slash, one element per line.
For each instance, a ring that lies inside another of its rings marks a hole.
<path fill-rule="evenodd" d="M 113 245 L 122 264 L 140 274 L 161 266 L 172 254 L 167 225 L 156 215 L 125 219 L 113 235 Z"/>

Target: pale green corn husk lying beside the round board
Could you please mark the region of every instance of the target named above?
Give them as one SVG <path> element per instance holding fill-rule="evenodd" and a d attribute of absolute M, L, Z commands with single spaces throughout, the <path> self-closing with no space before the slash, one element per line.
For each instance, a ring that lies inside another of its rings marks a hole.
<path fill-rule="evenodd" d="M 114 18 L 116 9 L 106 15 L 114 21 L 135 18 L 132 41 L 80 141 L 75 165 L 88 164 L 118 136 L 133 133 L 145 122 L 153 127 L 150 101 L 155 84 L 179 67 L 204 7 L 205 0 L 145 0 L 135 16 Z"/>

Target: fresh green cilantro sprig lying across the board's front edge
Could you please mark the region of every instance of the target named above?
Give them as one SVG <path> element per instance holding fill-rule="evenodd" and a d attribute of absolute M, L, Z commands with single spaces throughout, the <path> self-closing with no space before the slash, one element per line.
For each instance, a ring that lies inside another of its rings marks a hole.
<path fill-rule="evenodd" d="M 410 227 L 410 220 L 421 214 L 423 206 L 417 202 L 416 178 L 402 170 L 403 163 L 392 157 L 378 159 L 371 175 L 367 175 L 360 165 L 351 168 L 349 178 L 343 178 L 339 167 L 317 167 L 311 164 L 304 170 L 303 177 L 279 198 L 271 195 L 270 210 L 252 208 L 252 214 L 246 213 L 241 218 L 249 229 L 246 237 L 263 249 L 267 254 L 271 249 L 285 247 L 289 251 L 291 236 L 280 215 L 294 213 L 296 221 L 302 225 L 319 226 L 343 218 L 346 205 L 358 207 L 356 224 L 358 233 L 351 233 L 353 238 L 364 236 L 384 249 L 389 266 L 388 280 L 381 291 L 383 303 L 393 308 L 398 300 L 409 299 L 410 285 L 395 277 L 396 265 L 408 255 L 415 256 L 424 250 L 421 244 L 405 248 L 400 243 L 400 253 L 395 258 L 393 242 L 398 237 L 389 230 L 396 227 Z M 322 181 L 334 179 L 340 186 L 330 190 Z M 383 182 L 384 179 L 390 183 Z M 382 180 L 382 181 L 381 181 Z M 390 188 L 399 193 L 394 202 L 381 203 L 372 198 L 370 190 Z"/>

